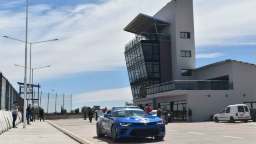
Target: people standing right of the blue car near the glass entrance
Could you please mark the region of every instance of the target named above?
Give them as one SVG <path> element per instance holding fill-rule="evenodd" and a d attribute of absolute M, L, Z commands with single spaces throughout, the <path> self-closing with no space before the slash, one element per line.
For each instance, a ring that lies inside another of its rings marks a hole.
<path fill-rule="evenodd" d="M 147 114 L 149 114 L 153 110 L 150 106 L 151 105 L 148 104 L 148 106 L 146 107 Z M 169 113 L 169 109 L 167 108 L 167 106 L 163 106 L 162 108 L 157 106 L 156 115 L 158 117 L 161 117 L 165 124 L 168 124 L 168 121 L 170 122 L 172 121 L 172 113 Z M 192 122 L 192 110 L 190 108 L 188 108 L 188 118 L 189 118 L 189 122 Z"/>

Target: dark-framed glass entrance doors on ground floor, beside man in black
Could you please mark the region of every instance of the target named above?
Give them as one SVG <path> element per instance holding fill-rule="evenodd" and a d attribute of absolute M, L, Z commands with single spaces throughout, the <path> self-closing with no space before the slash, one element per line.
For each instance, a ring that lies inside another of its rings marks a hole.
<path fill-rule="evenodd" d="M 173 120 L 187 120 L 187 101 L 171 102 Z"/>

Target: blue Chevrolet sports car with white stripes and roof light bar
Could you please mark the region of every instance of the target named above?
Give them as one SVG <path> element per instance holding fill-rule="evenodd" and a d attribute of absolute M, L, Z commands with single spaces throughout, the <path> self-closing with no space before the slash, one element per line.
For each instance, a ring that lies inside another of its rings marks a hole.
<path fill-rule="evenodd" d="M 97 120 L 97 136 L 108 135 L 114 142 L 127 137 L 165 136 L 165 125 L 161 118 L 148 115 L 137 106 L 113 107 Z"/>

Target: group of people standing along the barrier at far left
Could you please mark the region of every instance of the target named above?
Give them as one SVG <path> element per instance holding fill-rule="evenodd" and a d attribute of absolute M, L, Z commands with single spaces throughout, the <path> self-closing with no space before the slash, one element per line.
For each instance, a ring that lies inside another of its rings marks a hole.
<path fill-rule="evenodd" d="M 15 101 L 14 104 L 12 105 L 12 117 L 13 117 L 13 128 L 17 128 L 15 125 L 15 121 L 17 120 L 18 117 L 18 110 L 19 110 L 20 106 L 18 106 L 18 102 Z M 24 117 L 24 106 L 21 108 L 20 110 L 21 112 L 21 121 L 23 122 L 23 117 Z M 40 110 L 40 121 L 43 119 L 44 121 L 44 109 Z M 28 105 L 27 109 L 26 109 L 26 118 L 27 118 L 27 124 L 30 125 L 29 122 L 33 122 L 35 121 L 35 115 L 36 115 L 36 111 L 34 107 L 31 107 L 31 104 Z"/>

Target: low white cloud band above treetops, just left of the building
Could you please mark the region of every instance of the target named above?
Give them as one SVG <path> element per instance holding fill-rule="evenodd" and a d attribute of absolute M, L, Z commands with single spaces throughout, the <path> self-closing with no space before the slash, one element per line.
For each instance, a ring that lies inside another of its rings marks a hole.
<path fill-rule="evenodd" d="M 75 95 L 72 99 L 73 103 L 95 102 L 95 101 L 118 101 L 131 100 L 132 92 L 130 87 L 118 89 L 106 89 L 99 91 L 92 91 Z"/>

